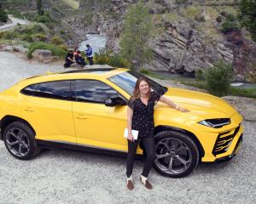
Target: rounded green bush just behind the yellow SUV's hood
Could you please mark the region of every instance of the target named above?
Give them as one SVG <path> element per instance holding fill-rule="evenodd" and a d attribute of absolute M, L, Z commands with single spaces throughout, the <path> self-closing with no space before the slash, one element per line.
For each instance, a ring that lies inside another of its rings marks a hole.
<path fill-rule="evenodd" d="M 230 90 L 230 82 L 233 80 L 232 65 L 219 60 L 213 67 L 205 71 L 206 88 L 210 94 L 224 96 Z"/>

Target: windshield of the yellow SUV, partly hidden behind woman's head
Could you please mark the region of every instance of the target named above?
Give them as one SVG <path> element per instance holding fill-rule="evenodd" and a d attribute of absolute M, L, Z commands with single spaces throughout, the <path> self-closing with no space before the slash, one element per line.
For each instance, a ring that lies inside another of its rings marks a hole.
<path fill-rule="evenodd" d="M 119 75 L 109 77 L 108 80 L 110 82 L 113 82 L 117 86 L 119 86 L 119 88 L 122 88 L 123 90 L 125 90 L 125 92 L 127 92 L 128 94 L 132 95 L 138 77 L 145 77 L 145 76 L 143 76 L 135 71 L 127 71 L 127 72 L 123 72 Z M 148 78 L 148 77 L 146 77 L 146 78 Z M 168 88 L 161 86 L 159 83 L 154 82 L 150 78 L 148 78 L 148 80 L 150 82 L 150 87 L 156 93 L 158 93 L 160 95 L 163 95 L 166 93 Z"/>

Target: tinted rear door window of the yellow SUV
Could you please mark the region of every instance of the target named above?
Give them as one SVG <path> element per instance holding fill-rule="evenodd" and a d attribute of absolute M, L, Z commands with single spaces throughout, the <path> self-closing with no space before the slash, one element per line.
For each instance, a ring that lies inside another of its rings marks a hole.
<path fill-rule="evenodd" d="M 70 81 L 39 83 L 34 96 L 49 99 L 70 99 Z"/>

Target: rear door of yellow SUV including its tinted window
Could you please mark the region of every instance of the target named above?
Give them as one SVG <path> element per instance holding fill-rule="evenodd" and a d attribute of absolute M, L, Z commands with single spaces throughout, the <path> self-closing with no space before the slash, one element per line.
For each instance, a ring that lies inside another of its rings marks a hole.
<path fill-rule="evenodd" d="M 21 90 L 20 112 L 36 131 L 36 138 L 76 144 L 71 82 L 33 84 Z"/>

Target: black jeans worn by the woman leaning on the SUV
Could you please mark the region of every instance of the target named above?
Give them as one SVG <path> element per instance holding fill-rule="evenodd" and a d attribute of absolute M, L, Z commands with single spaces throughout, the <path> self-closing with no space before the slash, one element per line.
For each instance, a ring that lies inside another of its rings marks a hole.
<path fill-rule="evenodd" d="M 131 142 L 128 139 L 128 155 L 127 155 L 127 163 L 126 163 L 127 178 L 129 178 L 132 173 L 134 157 L 136 154 L 137 144 L 139 144 L 139 141 L 141 141 L 143 144 L 143 157 L 145 158 L 143 173 L 142 173 L 144 177 L 148 177 L 148 173 L 150 172 L 150 169 L 154 162 L 154 157 L 155 157 L 154 137 L 137 139 L 137 140 L 134 140 L 133 142 Z"/>

